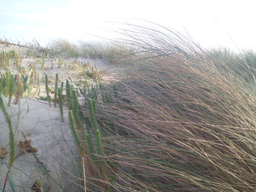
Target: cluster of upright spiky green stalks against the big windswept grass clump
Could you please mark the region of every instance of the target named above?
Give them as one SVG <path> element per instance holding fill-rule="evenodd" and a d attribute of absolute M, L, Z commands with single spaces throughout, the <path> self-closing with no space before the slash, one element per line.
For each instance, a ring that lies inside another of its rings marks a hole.
<path fill-rule="evenodd" d="M 61 88 L 59 88 L 59 93 L 61 93 Z M 78 185 L 83 190 L 108 191 L 110 185 L 108 185 L 107 177 L 108 166 L 104 159 L 104 134 L 101 134 L 95 115 L 95 101 L 86 99 L 87 110 L 83 110 L 78 101 L 78 91 L 69 84 L 68 80 L 66 82 L 66 98 L 69 107 L 69 126 L 79 152 L 80 172 L 78 172 L 78 177 L 80 183 Z M 61 99 L 59 99 L 59 107 L 61 107 L 60 101 Z"/>

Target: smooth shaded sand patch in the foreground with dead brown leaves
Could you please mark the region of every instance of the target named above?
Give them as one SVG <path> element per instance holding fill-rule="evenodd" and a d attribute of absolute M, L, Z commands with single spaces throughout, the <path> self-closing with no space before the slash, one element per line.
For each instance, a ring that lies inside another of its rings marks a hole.
<path fill-rule="evenodd" d="M 69 129 L 67 110 L 64 110 L 65 121 L 61 123 L 59 108 L 49 107 L 44 101 L 22 99 L 20 115 L 18 108 L 18 105 L 12 104 L 9 109 L 15 128 L 15 155 L 18 156 L 15 158 L 11 176 L 15 185 L 19 186 L 17 191 L 29 191 L 35 180 L 43 181 L 49 186 L 50 191 L 59 191 L 59 189 L 69 191 L 71 186 L 75 188 L 72 183 L 75 180 L 72 177 L 75 166 L 72 153 L 76 153 L 76 147 Z M 19 120 L 18 116 L 20 116 Z M 8 128 L 1 113 L 0 130 L 0 146 L 7 146 L 8 149 Z M 36 161 L 32 153 L 20 154 L 18 142 L 26 141 L 25 138 L 31 139 L 31 147 L 37 148 L 38 151 L 34 154 L 49 171 L 48 177 L 43 166 Z M 2 159 L 0 166 L 0 186 L 3 186 L 7 173 L 7 162 L 8 155 Z"/>

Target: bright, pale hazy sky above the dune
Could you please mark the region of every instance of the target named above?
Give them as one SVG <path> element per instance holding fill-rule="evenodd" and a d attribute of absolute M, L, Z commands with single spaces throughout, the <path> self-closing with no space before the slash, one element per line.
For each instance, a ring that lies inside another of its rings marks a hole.
<path fill-rule="evenodd" d="M 118 23 L 173 28 L 202 47 L 256 50 L 256 2 L 230 0 L 0 0 L 0 37 L 71 42 L 118 38 Z"/>

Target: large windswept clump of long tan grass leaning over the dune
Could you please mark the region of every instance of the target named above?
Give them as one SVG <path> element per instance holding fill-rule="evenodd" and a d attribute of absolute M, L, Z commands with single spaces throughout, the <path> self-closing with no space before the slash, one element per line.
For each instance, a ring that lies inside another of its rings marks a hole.
<path fill-rule="evenodd" d="M 176 31 L 127 33 L 151 56 L 127 67 L 97 110 L 103 131 L 125 133 L 105 137 L 112 188 L 256 191 L 255 84 Z"/>

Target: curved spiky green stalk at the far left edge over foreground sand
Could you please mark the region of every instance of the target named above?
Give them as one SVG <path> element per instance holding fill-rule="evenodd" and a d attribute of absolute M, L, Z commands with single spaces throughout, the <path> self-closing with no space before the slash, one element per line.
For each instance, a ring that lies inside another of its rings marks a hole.
<path fill-rule="evenodd" d="M 0 95 L 0 108 L 1 108 L 1 111 L 4 113 L 4 118 L 9 128 L 9 142 L 10 142 L 9 170 L 10 170 L 12 168 L 12 164 L 15 159 L 15 140 L 14 140 L 14 133 L 12 128 L 12 120 L 10 118 L 10 115 L 7 112 L 7 109 L 4 105 L 4 99 L 1 95 Z"/>

